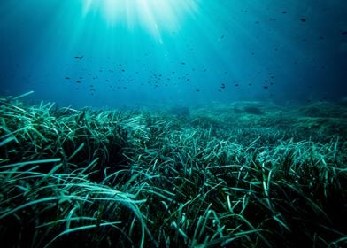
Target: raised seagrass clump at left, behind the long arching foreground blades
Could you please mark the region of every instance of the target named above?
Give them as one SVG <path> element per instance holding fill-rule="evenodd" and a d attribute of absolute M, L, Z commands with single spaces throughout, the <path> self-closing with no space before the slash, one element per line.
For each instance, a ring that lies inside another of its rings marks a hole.
<path fill-rule="evenodd" d="M 132 130 L 122 112 L 57 110 L 50 103 L 25 106 L 12 99 L 2 101 L 0 111 L 0 154 L 8 163 L 60 158 L 68 173 L 92 161 L 116 167 L 125 160 L 121 149 Z"/>

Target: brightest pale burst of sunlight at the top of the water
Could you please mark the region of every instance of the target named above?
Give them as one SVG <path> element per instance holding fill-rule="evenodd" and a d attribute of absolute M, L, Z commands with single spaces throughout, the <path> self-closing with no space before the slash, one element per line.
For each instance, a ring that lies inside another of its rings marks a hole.
<path fill-rule="evenodd" d="M 198 10 L 195 0 L 84 0 L 83 12 L 98 12 L 107 25 L 145 28 L 161 40 L 161 32 L 177 31 L 185 17 Z"/>

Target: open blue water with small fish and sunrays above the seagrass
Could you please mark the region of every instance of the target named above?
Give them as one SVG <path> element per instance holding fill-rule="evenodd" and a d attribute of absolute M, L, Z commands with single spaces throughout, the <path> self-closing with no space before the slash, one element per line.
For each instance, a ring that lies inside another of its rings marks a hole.
<path fill-rule="evenodd" d="M 347 97 L 346 0 L 2 0 L 0 95 L 58 105 Z"/>

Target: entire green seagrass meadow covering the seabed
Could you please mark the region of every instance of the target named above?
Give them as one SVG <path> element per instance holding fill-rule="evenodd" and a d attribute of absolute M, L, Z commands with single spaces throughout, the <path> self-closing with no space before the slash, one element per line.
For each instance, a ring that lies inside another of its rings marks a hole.
<path fill-rule="evenodd" d="M 346 105 L 24 99 L 0 99 L 6 247 L 347 245 Z"/>

